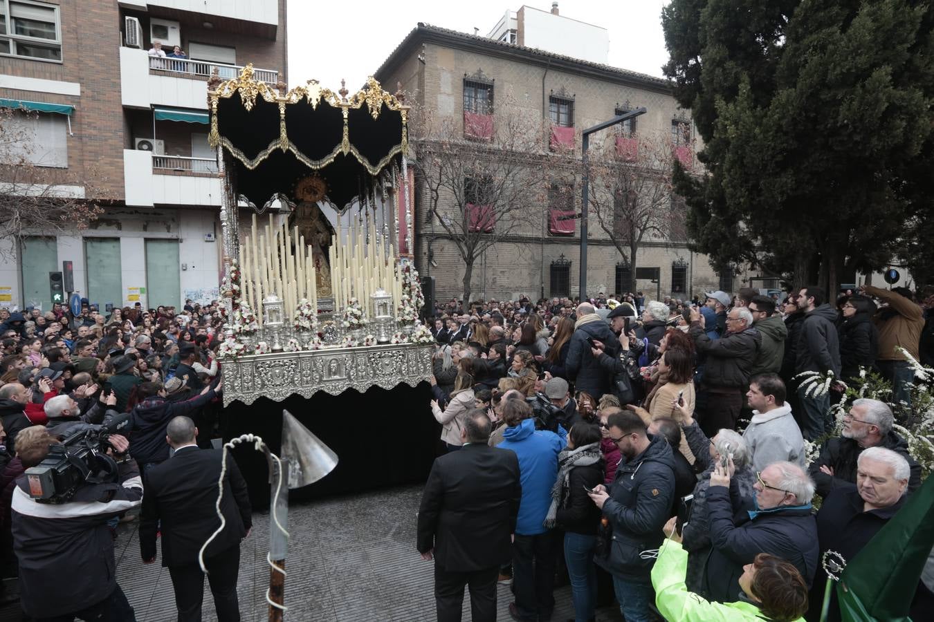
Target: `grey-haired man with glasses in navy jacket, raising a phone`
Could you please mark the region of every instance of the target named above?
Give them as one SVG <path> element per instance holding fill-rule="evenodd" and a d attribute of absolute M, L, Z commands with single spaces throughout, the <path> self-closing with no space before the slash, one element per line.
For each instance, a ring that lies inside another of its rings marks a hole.
<path fill-rule="evenodd" d="M 730 499 L 732 461 L 716 465 L 707 491 L 713 550 L 703 579 L 703 595 L 711 601 L 740 599 L 737 582 L 743 566 L 759 553 L 790 561 L 810 587 L 817 569 L 817 524 L 812 514 L 814 482 L 797 464 L 771 463 L 756 474 L 755 496 Z M 743 505 L 749 519 L 737 525 L 733 508 Z"/>

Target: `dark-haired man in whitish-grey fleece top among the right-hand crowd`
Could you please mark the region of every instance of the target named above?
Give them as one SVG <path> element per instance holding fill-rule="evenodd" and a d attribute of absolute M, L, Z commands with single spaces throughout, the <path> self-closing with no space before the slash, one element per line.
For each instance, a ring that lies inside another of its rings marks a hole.
<path fill-rule="evenodd" d="M 743 440 L 753 456 L 753 468 L 763 471 L 771 463 L 804 468 L 804 438 L 785 402 L 785 382 L 777 374 L 754 376 L 746 399 L 753 418 L 743 431 Z"/>

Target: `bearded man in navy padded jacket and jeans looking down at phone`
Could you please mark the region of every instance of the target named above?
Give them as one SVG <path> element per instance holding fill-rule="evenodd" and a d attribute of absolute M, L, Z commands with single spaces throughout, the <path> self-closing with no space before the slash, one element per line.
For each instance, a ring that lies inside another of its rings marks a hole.
<path fill-rule="evenodd" d="M 662 435 L 648 434 L 635 412 L 616 412 L 607 419 L 610 440 L 621 460 L 609 491 L 598 485 L 590 498 L 610 521 L 613 538 L 609 556 L 597 563 L 613 575 L 619 610 L 627 622 L 648 622 L 654 558 L 665 539 L 661 528 L 671 514 L 674 499 L 674 458 Z"/>

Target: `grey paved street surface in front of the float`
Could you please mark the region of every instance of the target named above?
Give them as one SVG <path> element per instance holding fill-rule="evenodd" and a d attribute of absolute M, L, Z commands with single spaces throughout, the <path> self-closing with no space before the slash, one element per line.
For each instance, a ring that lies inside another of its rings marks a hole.
<path fill-rule="evenodd" d="M 290 551 L 286 570 L 285 619 L 290 622 L 330 620 L 434 619 L 432 562 L 415 549 L 416 511 L 421 486 L 372 491 L 292 505 Z M 253 532 L 241 547 L 240 607 L 245 622 L 267 619 L 265 589 L 269 567 L 269 515 L 257 513 Z M 139 622 L 176 619 L 168 572 L 156 560 L 139 560 L 135 522 L 120 525 L 117 576 Z M 553 620 L 573 618 L 571 591 L 559 587 Z M 500 620 L 509 620 L 508 586 L 499 587 Z M 205 582 L 205 621 L 216 620 Z M 464 620 L 470 620 L 470 597 L 464 598 Z M 0 610 L 0 620 L 19 620 L 16 607 Z M 604 607 L 598 620 L 621 620 L 618 609 Z"/>

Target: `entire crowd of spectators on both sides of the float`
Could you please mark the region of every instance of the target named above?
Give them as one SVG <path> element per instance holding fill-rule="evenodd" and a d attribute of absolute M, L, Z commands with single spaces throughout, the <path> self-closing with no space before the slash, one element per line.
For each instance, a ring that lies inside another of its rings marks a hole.
<path fill-rule="evenodd" d="M 495 619 L 508 583 L 513 618 L 548 620 L 561 581 L 578 622 L 614 599 L 628 622 L 818 619 L 820 555 L 856 555 L 921 473 L 888 404 L 856 399 L 835 436 L 829 404 L 842 394 L 805 394 L 798 378 L 871 369 L 910 400 L 905 353 L 934 362 L 932 302 L 809 285 L 783 299 L 743 289 L 426 310 L 446 452 L 417 548 L 434 560 L 438 619 L 460 620 L 464 586 L 473 619 Z M 19 576 L 23 619 L 134 620 L 113 551 L 130 520 L 143 562 L 162 539 L 178 619 L 201 619 L 196 543 L 218 520 L 185 504 L 217 499 L 219 451 L 195 449 L 222 432 L 223 324 L 217 304 L 191 301 L 0 310 L 0 568 Z M 117 477 L 39 503 L 25 471 L 89 429 L 108 431 Z M 806 440 L 823 443 L 810 463 Z M 226 527 L 205 565 L 219 619 L 237 620 L 250 509 L 233 461 L 225 477 Z M 934 606 L 927 570 L 919 612 Z"/>

